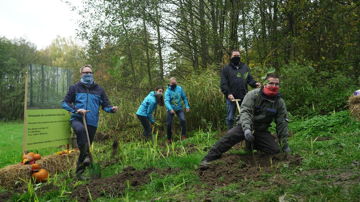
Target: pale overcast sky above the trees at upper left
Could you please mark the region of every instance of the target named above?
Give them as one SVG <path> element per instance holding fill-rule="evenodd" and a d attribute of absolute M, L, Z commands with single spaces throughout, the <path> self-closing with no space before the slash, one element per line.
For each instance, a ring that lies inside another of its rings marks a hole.
<path fill-rule="evenodd" d="M 70 0 L 80 5 L 80 0 Z M 0 36 L 26 38 L 40 50 L 57 35 L 75 39 L 78 14 L 60 0 L 0 0 Z"/>

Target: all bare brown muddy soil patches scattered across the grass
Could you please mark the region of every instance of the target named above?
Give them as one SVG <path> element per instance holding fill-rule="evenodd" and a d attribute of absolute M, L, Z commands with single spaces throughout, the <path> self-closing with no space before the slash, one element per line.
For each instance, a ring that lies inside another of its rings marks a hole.
<path fill-rule="evenodd" d="M 225 132 L 226 133 L 226 132 Z M 214 135 L 216 139 L 220 139 L 225 133 L 219 133 Z M 327 139 L 324 139 L 327 140 Z M 166 143 L 163 143 L 166 144 Z M 160 147 L 164 145 L 160 143 Z M 197 151 L 194 145 L 188 145 L 186 153 L 192 153 Z M 244 142 L 236 144 L 231 150 L 242 150 L 244 148 Z M 166 156 L 166 154 L 163 154 Z M 271 159 L 271 160 L 270 160 Z M 116 164 L 120 159 L 116 159 L 112 162 L 100 162 L 102 167 L 107 167 L 112 164 Z M 225 153 L 218 160 L 215 160 L 210 165 L 210 168 L 206 171 L 200 171 L 195 169 L 194 173 L 198 175 L 199 180 L 203 183 L 198 185 L 198 190 L 206 190 L 209 193 L 214 188 L 221 188 L 228 186 L 230 183 L 237 183 L 239 185 L 244 184 L 247 180 L 262 180 L 269 181 L 270 184 L 282 184 L 284 180 L 280 173 L 280 169 L 284 166 L 292 169 L 302 162 L 302 158 L 298 155 L 292 156 L 286 153 L 280 153 L 276 155 L 267 155 L 262 152 L 255 152 L 254 154 L 233 154 L 231 152 Z M 358 163 L 358 162 L 357 162 Z M 169 174 L 174 174 L 179 172 L 179 169 L 165 168 L 163 170 L 149 167 L 145 170 L 136 170 L 134 167 L 127 167 L 123 170 L 123 173 L 95 180 L 91 183 L 77 185 L 75 190 L 72 191 L 72 199 L 77 199 L 77 201 L 90 201 L 88 194 L 88 188 L 91 193 L 92 199 L 103 197 L 105 195 L 112 195 L 113 197 L 121 195 L 127 187 L 127 181 L 132 187 L 141 186 L 150 181 L 151 173 L 158 173 L 159 175 L 166 176 Z M 268 178 L 268 174 L 272 174 L 271 179 Z M 344 174 L 344 176 L 346 173 Z M 327 176 L 334 177 L 334 176 Z M 347 175 L 346 175 L 347 177 Z M 346 178 L 344 177 L 344 178 Z M 350 177 L 346 179 L 338 176 L 339 182 L 350 180 Z M 74 176 L 75 179 L 75 176 Z M 350 183 L 346 181 L 347 183 Z M 350 183 L 351 184 L 351 183 Z M 50 185 L 51 186 L 51 185 Z M 246 184 L 244 184 L 244 189 L 246 189 Z M 261 189 L 267 189 L 266 187 L 260 187 Z M 46 190 L 46 186 L 42 188 L 42 191 Z M 49 187 L 50 190 L 50 187 Z M 14 190 L 14 192 L 19 193 L 19 191 L 24 192 L 24 190 Z M 42 192 L 44 193 L 44 192 Z M 41 194 L 41 193 L 39 193 Z M 7 201 L 7 199 L 13 196 L 13 192 L 3 192 L 0 193 L 0 202 Z"/>

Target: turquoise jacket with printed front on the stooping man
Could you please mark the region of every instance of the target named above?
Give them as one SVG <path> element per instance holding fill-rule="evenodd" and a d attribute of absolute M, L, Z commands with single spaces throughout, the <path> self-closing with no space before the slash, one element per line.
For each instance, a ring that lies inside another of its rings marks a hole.
<path fill-rule="evenodd" d="M 188 97 L 186 97 L 183 88 L 179 85 L 176 85 L 175 89 L 170 87 L 170 84 L 167 84 L 167 89 L 165 91 L 165 106 L 167 111 L 174 110 L 175 112 L 183 109 L 183 104 L 181 104 L 181 99 L 183 99 L 185 104 L 185 109 L 190 108 L 188 103 Z"/>

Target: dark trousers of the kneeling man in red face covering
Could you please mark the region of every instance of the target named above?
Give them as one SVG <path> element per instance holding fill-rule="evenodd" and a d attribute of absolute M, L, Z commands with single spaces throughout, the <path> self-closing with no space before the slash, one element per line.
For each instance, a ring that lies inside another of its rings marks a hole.
<path fill-rule="evenodd" d="M 254 144 L 253 149 L 265 152 L 267 154 L 275 154 L 280 152 L 279 144 L 269 131 L 255 131 L 253 133 Z M 243 129 L 240 125 L 231 128 L 207 153 L 202 160 L 213 161 L 219 159 L 222 153 L 230 150 L 235 144 L 245 140 Z"/>

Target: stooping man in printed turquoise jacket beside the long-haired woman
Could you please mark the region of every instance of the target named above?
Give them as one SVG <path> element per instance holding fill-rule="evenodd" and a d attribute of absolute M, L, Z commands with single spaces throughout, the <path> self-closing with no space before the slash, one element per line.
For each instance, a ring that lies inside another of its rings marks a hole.
<path fill-rule="evenodd" d="M 181 88 L 176 83 L 176 78 L 171 77 L 169 84 L 167 85 L 167 89 L 165 91 L 165 106 L 167 109 L 166 114 L 166 134 L 167 134 L 167 143 L 170 143 L 172 131 L 171 131 L 171 124 L 172 119 L 174 118 L 174 114 L 177 115 L 180 119 L 181 124 L 181 139 L 186 139 L 186 123 L 185 123 L 185 114 L 183 105 L 181 104 L 181 99 L 183 99 L 185 104 L 186 112 L 190 111 L 188 97 L 186 97 L 183 88 Z"/>

